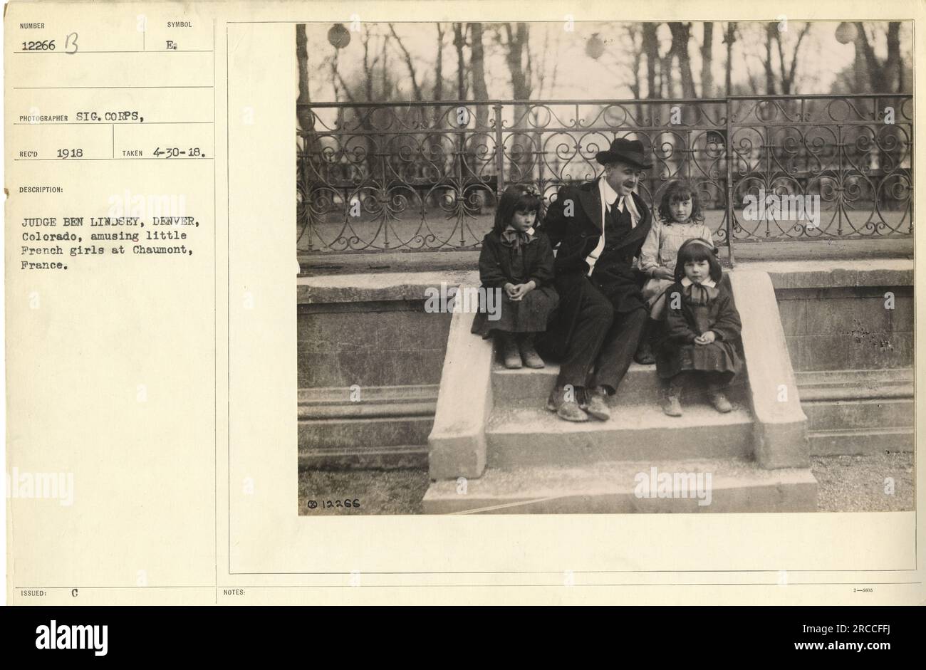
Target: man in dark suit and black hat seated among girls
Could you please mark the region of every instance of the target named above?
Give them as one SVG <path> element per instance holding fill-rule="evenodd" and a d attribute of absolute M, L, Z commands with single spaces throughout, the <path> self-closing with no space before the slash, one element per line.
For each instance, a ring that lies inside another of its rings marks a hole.
<path fill-rule="evenodd" d="M 653 166 L 637 140 L 617 139 L 595 160 L 604 174 L 560 188 L 541 229 L 558 246 L 559 308 L 542 345 L 561 366 L 547 406 L 567 421 L 610 417 L 607 396 L 627 373 L 646 320 L 632 264 L 652 217 L 633 190 Z"/>

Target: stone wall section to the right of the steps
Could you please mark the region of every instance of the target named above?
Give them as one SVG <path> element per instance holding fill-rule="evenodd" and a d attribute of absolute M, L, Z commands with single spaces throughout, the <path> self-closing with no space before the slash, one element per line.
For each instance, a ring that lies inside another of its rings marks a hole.
<path fill-rule="evenodd" d="M 913 262 L 770 272 L 813 454 L 913 450 Z"/>

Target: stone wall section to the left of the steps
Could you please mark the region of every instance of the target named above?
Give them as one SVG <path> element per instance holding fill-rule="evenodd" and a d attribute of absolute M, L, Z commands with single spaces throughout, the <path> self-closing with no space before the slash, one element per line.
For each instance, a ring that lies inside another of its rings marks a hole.
<path fill-rule="evenodd" d="M 297 279 L 300 465 L 427 467 L 452 315 L 425 312 L 424 289 L 447 279 Z"/>

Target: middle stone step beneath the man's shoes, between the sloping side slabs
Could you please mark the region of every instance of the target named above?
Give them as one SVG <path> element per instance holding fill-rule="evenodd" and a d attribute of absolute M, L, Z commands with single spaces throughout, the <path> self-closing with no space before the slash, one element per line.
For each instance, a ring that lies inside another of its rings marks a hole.
<path fill-rule="evenodd" d="M 720 414 L 706 404 L 666 416 L 657 404 L 614 409 L 607 421 L 573 423 L 546 409 L 495 409 L 486 426 L 488 467 L 587 465 L 753 456 L 753 416 L 742 405 Z"/>

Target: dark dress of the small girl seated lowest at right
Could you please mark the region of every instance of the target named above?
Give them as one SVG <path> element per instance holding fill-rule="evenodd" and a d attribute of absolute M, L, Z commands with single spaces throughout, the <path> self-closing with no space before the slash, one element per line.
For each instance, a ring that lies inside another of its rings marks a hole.
<path fill-rule="evenodd" d="M 672 296 L 679 292 L 681 305 L 672 309 Z M 672 378 L 684 370 L 724 373 L 729 381 L 743 366 L 737 352 L 740 340 L 740 315 L 733 304 L 730 281 L 716 287 L 681 281 L 666 291 L 665 338 L 657 349 L 656 369 L 659 377 Z M 710 344 L 695 344 L 694 338 L 713 330 L 717 339 Z"/>

